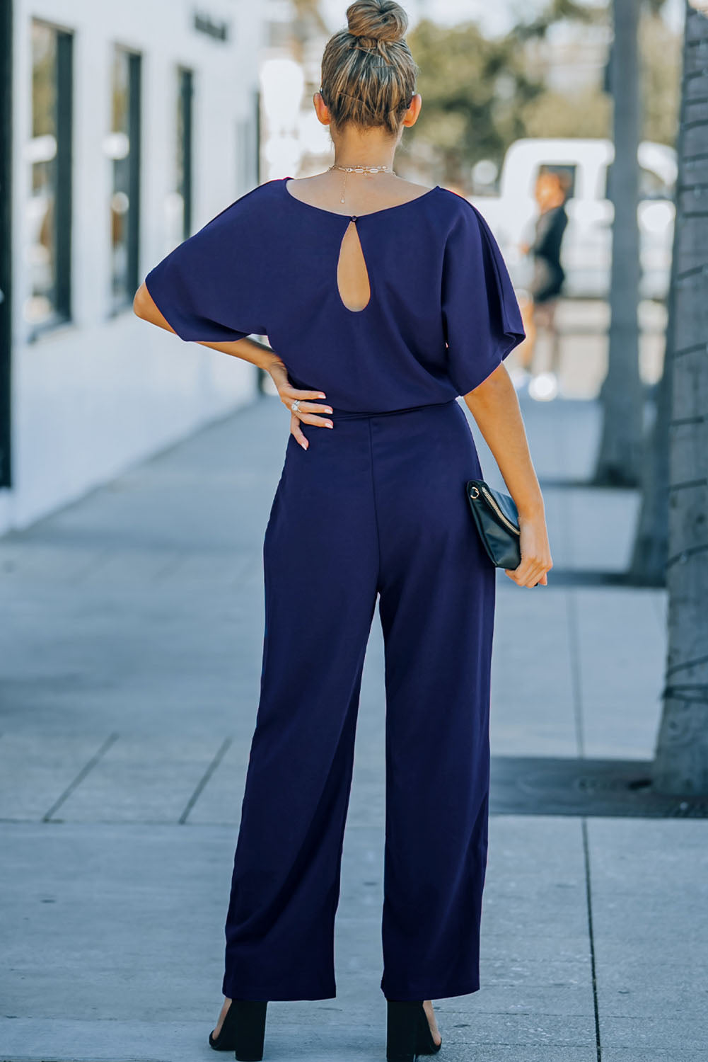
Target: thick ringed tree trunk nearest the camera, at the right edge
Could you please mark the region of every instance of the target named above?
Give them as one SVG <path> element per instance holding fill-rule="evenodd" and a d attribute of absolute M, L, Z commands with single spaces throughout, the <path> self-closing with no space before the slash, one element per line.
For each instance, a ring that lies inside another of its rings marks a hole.
<path fill-rule="evenodd" d="M 697 0 L 696 0 L 697 2 Z M 669 426 L 669 650 L 653 780 L 708 793 L 708 18 L 687 6 Z"/>

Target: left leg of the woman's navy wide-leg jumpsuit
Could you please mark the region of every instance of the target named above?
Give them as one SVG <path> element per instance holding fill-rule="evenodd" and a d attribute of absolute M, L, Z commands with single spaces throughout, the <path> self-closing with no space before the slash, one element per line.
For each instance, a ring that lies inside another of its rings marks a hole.
<path fill-rule="evenodd" d="M 334 914 L 378 575 L 365 427 L 311 428 L 307 451 L 290 438 L 265 531 L 260 700 L 225 927 L 230 998 L 335 995 Z"/>

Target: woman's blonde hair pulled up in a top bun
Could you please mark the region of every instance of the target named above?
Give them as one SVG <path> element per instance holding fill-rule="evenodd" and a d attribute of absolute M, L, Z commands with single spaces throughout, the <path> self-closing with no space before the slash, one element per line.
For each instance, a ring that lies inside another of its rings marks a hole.
<path fill-rule="evenodd" d="M 419 68 L 403 36 L 408 15 L 394 0 L 356 0 L 347 29 L 327 41 L 321 93 L 332 123 L 382 125 L 395 136 L 415 93 Z"/>

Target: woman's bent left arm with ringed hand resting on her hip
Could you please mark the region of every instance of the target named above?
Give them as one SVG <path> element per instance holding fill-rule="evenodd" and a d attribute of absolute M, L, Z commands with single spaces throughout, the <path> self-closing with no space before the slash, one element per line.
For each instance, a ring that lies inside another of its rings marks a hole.
<path fill-rule="evenodd" d="M 155 302 L 153 301 L 144 281 L 135 293 L 135 298 L 133 299 L 133 311 L 137 316 L 141 318 L 141 320 L 149 321 L 150 324 L 157 325 L 159 328 L 165 328 L 166 331 L 171 331 L 173 335 L 176 335 L 174 328 L 168 323 L 155 305 Z M 257 365 L 258 369 L 262 369 L 264 372 L 269 373 L 278 392 L 280 401 L 288 408 L 290 413 L 290 430 L 304 450 L 306 450 L 310 444 L 303 433 L 300 421 L 304 424 L 313 424 L 317 427 L 332 427 L 331 421 L 328 421 L 324 416 L 316 416 L 317 412 L 331 413 L 331 407 L 306 400 L 312 398 L 324 398 L 324 392 L 299 391 L 297 388 L 293 388 L 288 379 L 288 370 L 284 362 L 277 356 L 275 350 L 273 350 L 270 346 L 266 346 L 265 343 L 259 343 L 257 340 L 251 338 L 235 340 L 231 343 L 208 343 L 200 340 L 196 342 L 200 343 L 200 346 L 208 346 L 211 347 L 212 350 L 228 354 L 234 358 L 241 358 L 242 361 L 247 361 L 252 365 Z M 297 413 L 293 413 L 292 405 L 296 398 L 299 398 L 300 401 L 299 411 Z"/>

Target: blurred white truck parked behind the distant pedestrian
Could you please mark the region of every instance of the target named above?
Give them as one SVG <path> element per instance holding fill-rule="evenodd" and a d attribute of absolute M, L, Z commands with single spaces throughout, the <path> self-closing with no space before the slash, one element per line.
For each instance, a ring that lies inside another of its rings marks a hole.
<path fill-rule="evenodd" d="M 574 298 L 605 298 L 609 290 L 612 204 L 606 195 L 611 140 L 516 140 L 507 150 L 499 179 L 499 194 L 471 195 L 489 223 L 514 284 L 523 288 L 530 259 L 521 242 L 533 240 L 538 216 L 534 186 L 540 170 L 563 171 L 570 179 L 560 261 L 566 272 L 564 294 Z M 640 239 L 642 298 L 664 299 L 669 288 L 674 226 L 676 153 L 667 144 L 644 140 L 639 145 Z"/>

